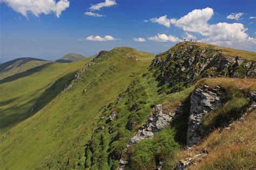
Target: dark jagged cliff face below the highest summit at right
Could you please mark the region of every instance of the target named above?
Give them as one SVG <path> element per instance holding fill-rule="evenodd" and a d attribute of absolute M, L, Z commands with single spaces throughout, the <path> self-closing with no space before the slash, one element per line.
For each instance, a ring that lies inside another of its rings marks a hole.
<path fill-rule="evenodd" d="M 172 87 L 189 86 L 200 78 L 256 77 L 254 61 L 227 56 L 225 48 L 191 42 L 156 56 L 150 68 L 161 83 Z"/>

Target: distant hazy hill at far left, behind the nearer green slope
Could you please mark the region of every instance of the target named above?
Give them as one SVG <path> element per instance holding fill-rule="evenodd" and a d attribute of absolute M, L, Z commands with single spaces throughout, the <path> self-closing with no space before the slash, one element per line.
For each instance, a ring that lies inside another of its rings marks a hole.
<path fill-rule="evenodd" d="M 0 80 L 46 63 L 49 63 L 49 61 L 27 57 L 17 58 L 15 60 L 11 60 L 10 62 L 0 64 Z"/>

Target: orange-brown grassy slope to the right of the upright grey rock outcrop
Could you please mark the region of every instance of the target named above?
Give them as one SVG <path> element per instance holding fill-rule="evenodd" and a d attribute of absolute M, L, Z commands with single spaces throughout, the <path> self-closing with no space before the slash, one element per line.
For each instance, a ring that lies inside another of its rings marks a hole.
<path fill-rule="evenodd" d="M 221 112 L 218 110 L 208 115 L 204 120 L 204 126 L 207 127 L 209 122 L 211 125 L 221 125 L 216 120 L 226 117 L 235 118 L 239 115 L 242 104 L 245 103 L 244 97 L 240 97 L 241 93 L 256 90 L 255 79 L 204 79 L 198 85 L 207 84 L 210 87 L 221 85 L 232 95 L 232 99 L 222 106 Z M 248 105 L 248 104 L 247 104 Z M 233 110 L 233 112 L 232 112 Z M 190 169 L 255 169 L 256 159 L 256 130 L 254 128 L 256 122 L 256 112 L 251 108 L 246 110 L 247 114 L 242 116 L 241 120 L 234 121 L 230 128 L 222 130 L 216 128 L 210 133 L 201 144 L 193 147 L 190 154 L 198 154 L 203 149 L 207 149 L 208 156 L 190 167 Z M 218 127 L 218 126 L 217 126 Z M 187 151 L 181 152 L 183 155 L 188 154 Z"/>

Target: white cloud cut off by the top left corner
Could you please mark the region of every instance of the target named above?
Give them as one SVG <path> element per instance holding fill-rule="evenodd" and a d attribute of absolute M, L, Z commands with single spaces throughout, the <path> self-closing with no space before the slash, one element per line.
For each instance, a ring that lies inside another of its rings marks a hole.
<path fill-rule="evenodd" d="M 27 17 L 28 12 L 33 13 L 37 17 L 41 13 L 48 15 L 53 12 L 59 17 L 62 11 L 69 8 L 68 0 L 60 0 L 58 2 L 55 0 L 0 0 L 0 2 L 6 3 L 10 8 L 25 17 Z"/>

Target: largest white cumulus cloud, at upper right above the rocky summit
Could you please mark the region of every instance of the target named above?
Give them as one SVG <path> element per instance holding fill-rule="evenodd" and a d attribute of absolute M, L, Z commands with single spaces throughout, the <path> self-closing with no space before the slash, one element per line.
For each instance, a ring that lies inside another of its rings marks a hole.
<path fill-rule="evenodd" d="M 167 24 L 164 24 L 165 22 L 162 22 L 163 23 L 162 25 L 165 25 L 168 27 L 169 23 L 171 23 L 172 25 L 183 29 L 183 31 L 186 31 L 185 32 L 186 35 L 184 37 L 189 36 L 188 34 L 190 34 L 191 32 L 194 32 L 203 36 L 203 38 L 199 40 L 200 42 L 212 43 L 216 45 L 227 45 L 227 46 L 233 46 L 233 47 L 239 47 L 239 48 L 256 46 L 255 38 L 248 36 L 248 34 L 246 33 L 248 29 L 245 28 L 244 24 L 225 23 L 225 22 L 223 23 L 220 22 L 217 24 L 209 24 L 208 21 L 212 18 L 213 14 L 214 14 L 214 11 L 211 8 L 195 9 L 179 19 L 177 18 L 168 19 L 167 16 L 163 16 L 161 21 L 169 21 L 167 22 Z M 237 15 L 237 14 L 235 14 L 234 16 L 237 18 L 240 18 L 241 14 L 240 15 Z M 155 21 L 155 19 L 153 21 Z M 167 40 L 166 37 L 167 37 L 166 35 L 165 36 L 161 35 L 161 38 L 159 36 L 150 37 L 150 38 L 152 40 L 155 39 L 159 41 L 166 41 Z M 194 37 L 192 39 L 194 39 Z"/>

